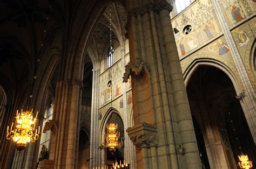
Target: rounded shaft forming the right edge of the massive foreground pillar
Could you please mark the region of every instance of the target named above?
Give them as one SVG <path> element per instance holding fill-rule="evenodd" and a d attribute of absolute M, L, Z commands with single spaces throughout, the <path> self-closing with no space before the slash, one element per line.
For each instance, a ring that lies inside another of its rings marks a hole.
<path fill-rule="evenodd" d="M 163 10 L 159 12 L 160 27 L 164 37 L 166 59 L 168 60 L 168 66 L 170 68 L 170 88 L 172 89 L 174 107 L 177 111 L 177 124 L 180 131 L 181 147 L 183 149 L 181 151 L 185 153 L 186 167 L 198 168 L 200 164 L 197 163 L 197 161 L 199 161 L 200 158 L 198 155 L 197 140 L 194 133 L 190 105 L 188 103 L 169 11 L 164 8 L 163 4 L 160 4 L 159 8 L 163 8 Z"/>

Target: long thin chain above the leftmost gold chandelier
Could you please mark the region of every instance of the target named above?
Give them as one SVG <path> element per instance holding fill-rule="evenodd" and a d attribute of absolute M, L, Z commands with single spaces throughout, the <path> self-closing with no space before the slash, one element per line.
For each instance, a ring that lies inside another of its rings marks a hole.
<path fill-rule="evenodd" d="M 45 18 L 44 27 L 43 27 L 42 40 L 41 40 L 41 43 L 40 43 L 40 46 L 39 46 L 39 50 L 38 50 L 37 54 L 35 53 L 35 61 L 34 61 L 35 67 L 33 69 L 32 85 L 30 85 L 30 89 L 29 89 L 28 107 L 30 107 L 31 100 L 32 100 L 32 97 L 33 97 L 33 95 L 32 95 L 33 94 L 33 88 L 35 86 L 35 81 L 37 79 L 37 71 L 38 71 L 38 67 L 39 67 L 39 62 L 41 61 L 40 60 L 41 59 L 41 53 L 42 53 L 42 49 L 43 49 L 44 38 L 45 38 L 45 35 L 46 35 L 46 25 L 49 21 L 50 9 L 51 9 L 51 0 L 49 1 L 48 10 L 47 10 L 47 13 L 46 13 L 46 18 Z"/>

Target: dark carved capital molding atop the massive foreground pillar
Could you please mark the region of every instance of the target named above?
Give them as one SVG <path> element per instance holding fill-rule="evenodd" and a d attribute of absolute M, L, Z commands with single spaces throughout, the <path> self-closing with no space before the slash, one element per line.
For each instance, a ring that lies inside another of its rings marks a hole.
<path fill-rule="evenodd" d="M 159 13 L 161 10 L 167 10 L 170 13 L 172 11 L 172 9 L 173 9 L 172 5 L 169 4 L 168 2 L 166 2 L 165 0 L 163 0 L 157 4 L 150 3 L 150 4 L 147 4 L 147 5 L 139 7 L 139 8 L 131 9 L 129 12 L 129 16 L 130 17 L 137 17 L 138 15 L 142 16 L 146 12 L 149 12 L 151 10 L 153 10 L 154 12 L 157 12 L 157 13 Z"/>

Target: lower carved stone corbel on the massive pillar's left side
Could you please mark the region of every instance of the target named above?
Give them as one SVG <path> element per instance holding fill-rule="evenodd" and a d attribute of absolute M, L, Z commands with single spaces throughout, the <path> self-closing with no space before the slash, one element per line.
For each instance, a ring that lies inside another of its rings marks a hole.
<path fill-rule="evenodd" d="M 142 124 L 128 128 L 126 131 L 128 132 L 128 135 L 133 144 L 138 147 L 157 146 L 156 125 L 143 122 Z"/>

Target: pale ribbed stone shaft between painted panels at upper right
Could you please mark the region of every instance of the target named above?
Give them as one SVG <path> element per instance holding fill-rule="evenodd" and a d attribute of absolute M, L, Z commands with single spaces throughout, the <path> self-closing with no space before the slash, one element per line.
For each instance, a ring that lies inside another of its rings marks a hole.
<path fill-rule="evenodd" d="M 238 95 L 242 108 L 244 110 L 244 114 L 246 117 L 246 121 L 252 133 L 252 137 L 254 143 L 256 144 L 256 95 L 250 78 L 246 72 L 244 63 L 242 62 L 240 53 L 238 51 L 237 46 L 235 45 L 235 41 L 232 37 L 230 29 L 226 23 L 223 12 L 221 11 L 220 4 L 218 1 L 212 1 L 214 6 L 214 10 L 216 12 L 217 18 L 219 20 L 221 29 L 224 33 L 224 36 L 227 40 L 228 47 L 230 47 L 230 52 L 232 58 L 235 63 L 235 68 L 237 68 L 238 74 L 242 81 L 242 85 L 245 89 L 244 93 Z"/>

